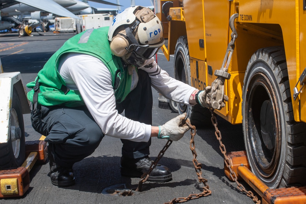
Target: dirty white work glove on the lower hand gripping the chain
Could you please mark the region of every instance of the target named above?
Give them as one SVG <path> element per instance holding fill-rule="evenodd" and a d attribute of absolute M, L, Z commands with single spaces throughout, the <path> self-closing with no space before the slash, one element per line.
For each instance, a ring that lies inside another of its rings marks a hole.
<path fill-rule="evenodd" d="M 185 120 L 187 113 L 178 115 L 174 119 L 169 120 L 167 123 L 159 126 L 159 133 L 157 138 L 168 139 L 172 141 L 177 141 L 181 139 L 185 132 L 189 130 L 189 126 L 186 121 L 190 123 L 189 118 Z"/>

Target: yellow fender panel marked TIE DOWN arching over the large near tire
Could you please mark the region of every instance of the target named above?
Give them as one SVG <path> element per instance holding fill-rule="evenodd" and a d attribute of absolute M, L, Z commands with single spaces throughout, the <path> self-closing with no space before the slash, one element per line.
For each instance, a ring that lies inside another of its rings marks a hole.
<path fill-rule="evenodd" d="M 301 1 L 302 2 L 302 1 Z M 281 27 L 283 44 L 288 67 L 290 91 L 297 83 L 300 74 L 300 45 L 299 45 L 299 11 L 298 0 L 282 1 L 239 1 L 239 22 L 258 24 L 278 24 Z M 286 15 L 290 13 L 290 15 Z M 296 14 L 296 15 L 292 15 Z M 248 16 L 248 17 L 245 17 Z M 243 18 L 242 18 L 243 17 Z M 238 36 L 239 38 L 239 36 Z M 293 95 L 293 94 L 291 94 Z M 299 121 L 299 103 L 293 100 L 293 111 L 296 121 Z"/>

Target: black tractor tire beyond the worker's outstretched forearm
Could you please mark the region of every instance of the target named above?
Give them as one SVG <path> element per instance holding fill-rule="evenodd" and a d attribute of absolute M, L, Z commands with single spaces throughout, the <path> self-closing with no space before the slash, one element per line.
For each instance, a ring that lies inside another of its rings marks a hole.
<path fill-rule="evenodd" d="M 174 78 L 184 82 L 185 84 L 191 85 L 190 57 L 187 36 L 180 36 L 177 39 L 174 52 Z M 191 106 L 177 103 L 175 109 L 178 110 L 179 114 L 186 112 L 187 116 L 190 118 Z"/>

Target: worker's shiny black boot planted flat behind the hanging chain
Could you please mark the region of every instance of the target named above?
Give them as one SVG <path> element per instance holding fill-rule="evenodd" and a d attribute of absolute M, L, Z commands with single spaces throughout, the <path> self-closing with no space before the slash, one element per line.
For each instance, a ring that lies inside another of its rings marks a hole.
<path fill-rule="evenodd" d="M 138 159 L 121 157 L 121 175 L 128 177 L 141 177 L 144 172 L 147 172 L 152 163 L 153 161 L 148 156 Z M 166 182 L 171 179 L 172 174 L 170 169 L 160 164 L 156 165 L 148 178 L 149 181 L 155 182 Z"/>

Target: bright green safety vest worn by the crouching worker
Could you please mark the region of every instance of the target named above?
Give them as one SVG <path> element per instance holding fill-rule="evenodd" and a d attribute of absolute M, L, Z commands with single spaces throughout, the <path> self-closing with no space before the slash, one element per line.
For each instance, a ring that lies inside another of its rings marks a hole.
<path fill-rule="evenodd" d="M 112 86 L 116 102 L 122 102 L 131 91 L 132 75 L 128 74 L 127 68 L 123 68 L 121 58 L 113 55 L 107 39 L 108 27 L 89 29 L 67 40 L 56 51 L 38 72 L 39 89 L 38 103 L 43 106 L 62 105 L 76 107 L 84 105 L 84 100 L 78 90 L 66 92 L 63 87 L 65 81 L 58 72 L 60 57 L 68 52 L 77 52 L 92 55 L 100 59 L 109 69 L 112 76 Z M 88 67 L 90 73 L 90 67 Z M 27 84 L 32 90 L 28 92 L 28 100 L 33 103 L 35 81 Z M 66 92 L 66 93 L 65 93 Z"/>

